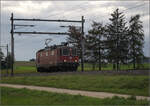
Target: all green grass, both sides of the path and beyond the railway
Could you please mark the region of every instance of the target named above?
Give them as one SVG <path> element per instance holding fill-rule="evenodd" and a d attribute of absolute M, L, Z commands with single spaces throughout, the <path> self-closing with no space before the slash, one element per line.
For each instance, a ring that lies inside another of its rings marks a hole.
<path fill-rule="evenodd" d="M 144 64 L 144 69 L 149 68 L 149 66 L 149 64 Z M 121 67 L 124 70 L 129 68 L 132 69 L 132 65 L 123 65 Z M 86 63 L 85 71 L 91 70 L 92 65 Z M 98 65 L 96 66 L 96 70 L 98 70 Z M 112 70 L 112 65 L 105 65 L 102 67 L 102 70 Z M 81 66 L 78 67 L 78 71 L 81 71 Z M 37 73 L 35 63 L 24 61 L 15 62 L 14 73 Z M 6 74 L 6 70 L 2 70 L 2 74 Z M 129 94 L 133 97 L 128 99 L 120 97 L 97 99 L 81 95 L 73 96 L 67 94 L 48 93 L 44 91 L 2 87 L 1 103 L 3 105 L 148 105 L 148 101 L 137 101 L 134 96 L 150 96 L 149 81 L 150 78 L 147 75 L 58 74 L 50 76 L 2 77 L 1 83 L 111 92 Z"/>

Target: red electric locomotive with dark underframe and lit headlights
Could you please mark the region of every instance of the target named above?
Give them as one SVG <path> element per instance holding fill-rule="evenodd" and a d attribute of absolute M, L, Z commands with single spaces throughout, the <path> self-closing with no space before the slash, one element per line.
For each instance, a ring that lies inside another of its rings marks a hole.
<path fill-rule="evenodd" d="M 77 49 L 67 45 L 45 47 L 36 53 L 36 67 L 42 71 L 76 71 L 79 65 Z"/>

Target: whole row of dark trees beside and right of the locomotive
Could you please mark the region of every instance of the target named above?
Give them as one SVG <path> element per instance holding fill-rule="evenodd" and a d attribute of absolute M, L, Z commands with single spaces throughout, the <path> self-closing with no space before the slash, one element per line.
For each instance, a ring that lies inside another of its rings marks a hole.
<path fill-rule="evenodd" d="M 81 28 L 71 26 L 69 43 L 78 47 L 81 57 Z M 116 9 L 109 18 L 109 23 L 93 21 L 88 34 L 82 36 L 85 46 L 85 61 L 99 63 L 99 70 L 103 63 L 113 64 L 114 70 L 120 69 L 120 64 L 141 63 L 144 57 L 144 30 L 140 15 L 130 17 L 126 21 L 123 12 Z"/>

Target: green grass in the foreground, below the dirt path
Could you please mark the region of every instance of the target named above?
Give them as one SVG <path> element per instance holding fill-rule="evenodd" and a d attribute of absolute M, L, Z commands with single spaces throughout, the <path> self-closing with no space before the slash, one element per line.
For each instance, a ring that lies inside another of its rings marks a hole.
<path fill-rule="evenodd" d="M 148 105 L 146 100 L 133 98 L 91 98 L 28 89 L 1 88 L 1 105 Z"/>

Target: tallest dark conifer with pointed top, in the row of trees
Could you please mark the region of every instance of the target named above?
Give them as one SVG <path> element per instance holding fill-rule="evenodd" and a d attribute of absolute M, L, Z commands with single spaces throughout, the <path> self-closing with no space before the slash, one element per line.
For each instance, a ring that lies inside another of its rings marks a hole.
<path fill-rule="evenodd" d="M 110 24 L 107 26 L 107 58 L 113 66 L 117 65 L 119 69 L 120 63 L 126 63 L 128 56 L 128 36 L 124 14 L 116 9 L 109 18 Z M 115 65 L 116 64 L 116 65 Z"/>

